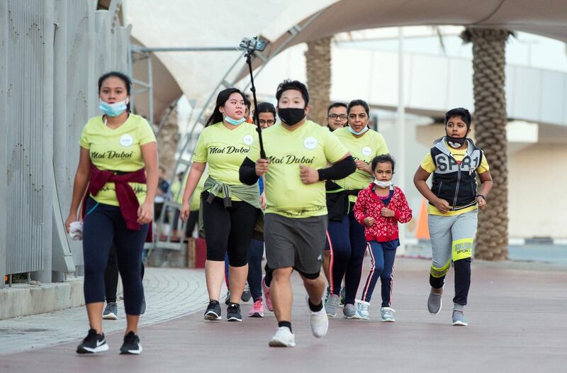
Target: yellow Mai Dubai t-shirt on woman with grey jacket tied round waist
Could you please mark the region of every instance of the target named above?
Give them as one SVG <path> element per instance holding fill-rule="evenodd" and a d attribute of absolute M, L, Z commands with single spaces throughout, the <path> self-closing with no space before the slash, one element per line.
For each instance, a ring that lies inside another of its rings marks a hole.
<path fill-rule="evenodd" d="M 257 142 L 258 133 L 253 124 L 245 122 L 229 130 L 222 122 L 215 123 L 199 135 L 193 162 L 208 163 L 208 174 L 218 182 L 242 185 L 238 170 L 247 157 L 250 146 Z M 235 196 L 230 198 L 240 201 Z"/>

